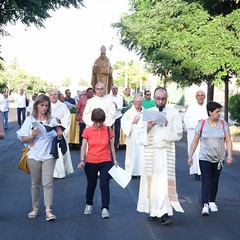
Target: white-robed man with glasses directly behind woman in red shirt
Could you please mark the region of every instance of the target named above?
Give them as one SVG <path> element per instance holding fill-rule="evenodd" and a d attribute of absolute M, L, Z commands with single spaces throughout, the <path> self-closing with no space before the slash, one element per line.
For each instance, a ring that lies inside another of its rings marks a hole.
<path fill-rule="evenodd" d="M 115 104 L 113 103 L 109 95 L 105 95 L 105 85 L 102 82 L 98 82 L 95 86 L 96 95 L 87 101 L 86 107 L 83 111 L 83 121 L 86 127 L 93 125 L 91 120 L 92 111 L 95 108 L 101 108 L 106 114 L 106 120 L 104 124 L 106 126 L 112 126 L 115 122 Z"/>

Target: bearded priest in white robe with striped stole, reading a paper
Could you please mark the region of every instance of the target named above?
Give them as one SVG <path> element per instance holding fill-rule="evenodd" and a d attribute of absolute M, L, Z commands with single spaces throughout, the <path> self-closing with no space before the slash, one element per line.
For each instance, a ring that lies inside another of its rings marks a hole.
<path fill-rule="evenodd" d="M 147 111 L 162 114 L 164 124 L 144 121 L 147 141 L 144 145 L 144 171 L 141 175 L 137 210 L 150 218 L 161 218 L 163 225 L 173 223 L 173 208 L 183 212 L 178 201 L 175 178 L 175 141 L 182 137 L 179 112 L 166 106 L 167 90 L 154 91 L 155 107 Z"/>

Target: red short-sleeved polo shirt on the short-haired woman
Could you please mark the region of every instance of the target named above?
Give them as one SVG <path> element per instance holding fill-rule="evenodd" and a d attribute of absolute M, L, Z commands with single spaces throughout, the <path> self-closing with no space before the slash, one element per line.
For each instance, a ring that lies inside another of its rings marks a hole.
<path fill-rule="evenodd" d="M 97 164 L 112 161 L 108 142 L 108 130 L 105 125 L 100 129 L 97 129 L 94 125 L 85 128 L 82 137 L 88 142 L 86 162 Z M 113 132 L 110 128 L 110 138 L 112 137 Z"/>

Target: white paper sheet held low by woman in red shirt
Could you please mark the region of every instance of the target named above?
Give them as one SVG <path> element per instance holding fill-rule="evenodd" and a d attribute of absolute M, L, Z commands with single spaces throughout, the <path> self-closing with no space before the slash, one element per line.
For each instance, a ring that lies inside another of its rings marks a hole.
<path fill-rule="evenodd" d="M 125 188 L 132 179 L 131 174 L 119 166 L 114 165 L 108 173 L 122 188 Z"/>

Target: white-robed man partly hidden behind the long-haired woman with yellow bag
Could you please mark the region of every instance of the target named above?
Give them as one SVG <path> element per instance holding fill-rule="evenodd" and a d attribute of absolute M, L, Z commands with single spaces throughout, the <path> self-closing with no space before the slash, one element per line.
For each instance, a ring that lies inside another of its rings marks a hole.
<path fill-rule="evenodd" d="M 57 118 L 61 122 L 61 125 L 65 128 L 63 137 L 67 143 L 67 152 L 64 155 L 62 154 L 61 149 L 58 147 L 59 158 L 56 161 L 53 177 L 64 178 L 66 177 L 66 174 L 74 172 L 71 154 L 67 142 L 71 123 L 70 111 L 64 103 L 58 100 L 58 92 L 56 90 L 50 91 L 49 98 L 51 101 L 52 117 Z"/>

